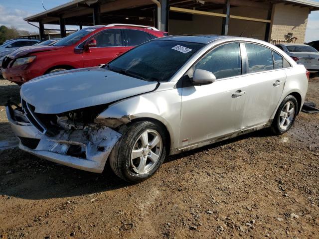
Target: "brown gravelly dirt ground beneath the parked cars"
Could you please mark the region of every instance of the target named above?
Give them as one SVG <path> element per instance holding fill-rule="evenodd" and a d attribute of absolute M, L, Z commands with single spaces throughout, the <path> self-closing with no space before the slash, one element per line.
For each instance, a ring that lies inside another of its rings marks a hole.
<path fill-rule="evenodd" d="M 19 87 L 0 80 L 0 142 Z M 307 100 L 319 105 L 319 78 Z M 319 114 L 167 158 L 130 185 L 0 150 L 0 238 L 319 238 Z"/>

